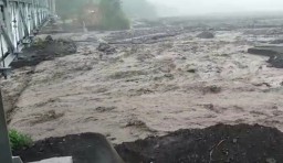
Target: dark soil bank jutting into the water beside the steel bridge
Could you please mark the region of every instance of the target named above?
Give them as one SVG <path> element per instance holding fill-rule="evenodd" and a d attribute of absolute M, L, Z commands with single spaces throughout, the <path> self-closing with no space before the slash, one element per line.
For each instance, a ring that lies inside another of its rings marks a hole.
<path fill-rule="evenodd" d="M 77 52 L 76 44 L 71 40 L 53 40 L 48 36 L 44 41 L 38 40 L 30 47 L 23 50 L 18 58 L 12 62 L 12 68 L 35 66 L 43 61 L 54 59 Z"/>

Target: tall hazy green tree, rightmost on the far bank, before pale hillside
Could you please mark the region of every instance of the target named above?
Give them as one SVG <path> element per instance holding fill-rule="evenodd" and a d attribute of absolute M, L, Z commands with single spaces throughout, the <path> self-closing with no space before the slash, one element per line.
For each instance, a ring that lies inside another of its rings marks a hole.
<path fill-rule="evenodd" d="M 103 30 L 126 30 L 129 29 L 129 20 L 120 8 L 119 0 L 101 0 L 102 12 L 101 28 Z"/>

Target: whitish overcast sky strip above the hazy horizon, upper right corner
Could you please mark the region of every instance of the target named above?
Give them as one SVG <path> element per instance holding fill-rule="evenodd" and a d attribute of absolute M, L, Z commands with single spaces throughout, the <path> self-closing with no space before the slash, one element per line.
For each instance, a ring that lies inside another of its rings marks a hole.
<path fill-rule="evenodd" d="M 283 11 L 283 0 L 148 0 L 187 14 Z"/>

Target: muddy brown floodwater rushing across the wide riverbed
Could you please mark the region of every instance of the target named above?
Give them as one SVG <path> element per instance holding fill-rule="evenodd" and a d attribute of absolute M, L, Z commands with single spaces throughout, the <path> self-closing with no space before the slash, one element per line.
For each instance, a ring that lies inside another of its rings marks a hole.
<path fill-rule="evenodd" d="M 113 143 L 220 122 L 282 131 L 283 69 L 248 48 L 283 30 L 210 31 L 211 39 L 180 26 L 51 34 L 77 51 L 17 67 L 1 80 L 9 127 L 34 140 L 98 132 Z"/>

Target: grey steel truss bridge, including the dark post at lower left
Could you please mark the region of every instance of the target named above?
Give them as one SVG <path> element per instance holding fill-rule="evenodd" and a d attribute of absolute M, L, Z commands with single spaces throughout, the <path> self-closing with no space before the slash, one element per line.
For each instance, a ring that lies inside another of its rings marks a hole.
<path fill-rule="evenodd" d="M 0 0 L 0 70 L 6 73 L 22 48 L 55 13 L 55 0 Z M 12 159 L 0 94 L 0 162 L 21 163 Z"/>

